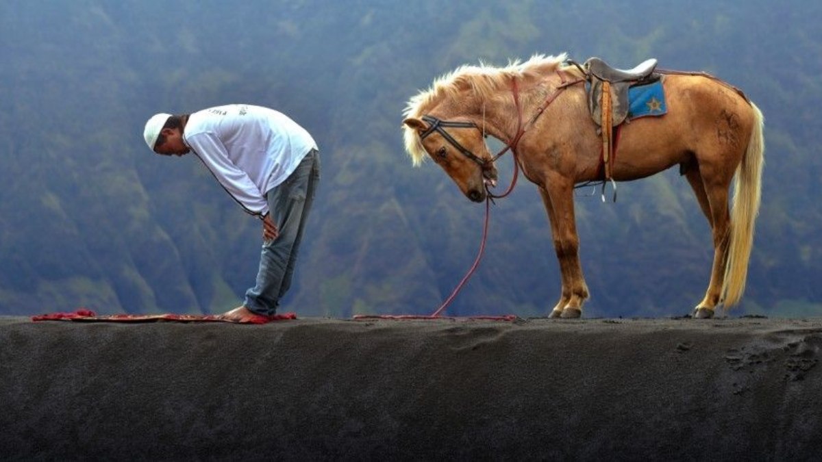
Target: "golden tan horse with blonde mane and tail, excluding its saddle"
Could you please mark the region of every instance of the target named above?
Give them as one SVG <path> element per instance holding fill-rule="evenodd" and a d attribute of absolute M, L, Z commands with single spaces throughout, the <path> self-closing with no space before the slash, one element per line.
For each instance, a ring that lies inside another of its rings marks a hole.
<path fill-rule="evenodd" d="M 603 140 L 589 111 L 584 76 L 564 53 L 507 67 L 464 66 L 414 96 L 404 111 L 405 149 L 413 163 L 430 156 L 471 201 L 485 200 L 487 187 L 496 185 L 486 133 L 506 143 L 515 167 L 537 185 L 561 271 L 552 317 L 581 316 L 589 296 L 574 187 L 603 179 Z M 663 89 L 667 114 L 621 127 L 608 178 L 630 181 L 680 166 L 713 233 L 710 282 L 694 309 L 695 317 L 712 317 L 745 290 L 760 206 L 762 113 L 741 91 L 707 74 L 665 75 Z"/>

